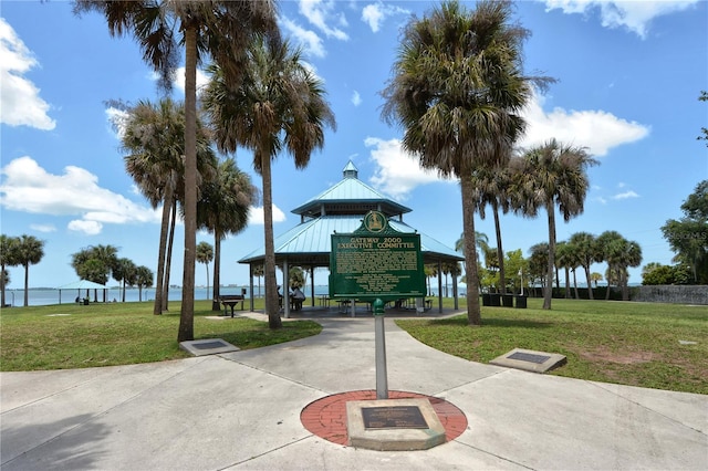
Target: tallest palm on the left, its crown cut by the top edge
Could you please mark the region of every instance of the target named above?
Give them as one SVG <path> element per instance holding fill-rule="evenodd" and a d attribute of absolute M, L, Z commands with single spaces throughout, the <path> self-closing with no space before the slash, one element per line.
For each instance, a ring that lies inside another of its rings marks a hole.
<path fill-rule="evenodd" d="M 273 0 L 75 0 L 74 11 L 98 11 L 112 35 L 132 34 L 143 57 L 169 88 L 185 45 L 185 255 L 178 342 L 194 339 L 195 252 L 197 245 L 197 65 L 211 56 L 230 88 L 238 85 L 244 51 L 262 32 L 279 36 Z"/>

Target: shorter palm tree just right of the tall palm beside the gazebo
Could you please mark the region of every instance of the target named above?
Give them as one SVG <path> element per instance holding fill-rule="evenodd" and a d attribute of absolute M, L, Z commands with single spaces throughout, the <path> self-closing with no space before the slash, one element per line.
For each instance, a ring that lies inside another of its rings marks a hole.
<path fill-rule="evenodd" d="M 522 158 L 512 159 L 513 193 L 519 198 L 517 211 L 535 217 L 545 208 L 549 224 L 549 265 L 543 308 L 551 308 L 553 268 L 555 265 L 555 206 L 564 221 L 583 212 L 590 188 L 586 168 L 596 165 L 584 148 L 560 144 L 551 139 L 527 150 Z"/>

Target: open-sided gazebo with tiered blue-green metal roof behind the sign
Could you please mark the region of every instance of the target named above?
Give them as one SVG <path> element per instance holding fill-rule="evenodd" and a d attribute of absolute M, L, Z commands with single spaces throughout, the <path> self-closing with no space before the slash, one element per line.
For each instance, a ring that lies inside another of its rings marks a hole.
<path fill-rule="evenodd" d="M 442 289 L 442 270 L 445 262 L 459 262 L 465 260 L 458 252 L 438 242 L 437 240 L 417 231 L 406 224 L 403 216 L 412 209 L 387 198 L 379 191 L 358 179 L 358 170 L 350 160 L 343 170 L 343 178 L 322 193 L 310 199 L 291 212 L 300 216 L 300 223 L 280 234 L 274 240 L 275 264 L 282 269 L 282 286 L 288 286 L 288 273 L 290 266 L 301 266 L 310 271 L 310 279 L 314 281 L 314 269 L 330 266 L 330 252 L 332 250 L 331 236 L 334 232 L 347 233 L 356 230 L 364 216 L 376 210 L 388 218 L 389 226 L 399 231 L 420 234 L 421 254 L 425 264 L 436 264 L 438 268 L 438 293 Z M 240 259 L 239 263 L 250 266 L 250 293 L 251 310 L 253 310 L 253 266 L 263 264 L 266 249 L 260 248 Z M 455 307 L 457 308 L 457 275 L 452 275 L 452 293 Z M 288 290 L 283 290 L 288 296 Z M 314 306 L 314 283 L 311 286 L 310 300 Z M 290 314 L 288 299 L 283 303 L 285 317 Z M 439 297 L 438 308 L 442 312 L 442 299 Z"/>

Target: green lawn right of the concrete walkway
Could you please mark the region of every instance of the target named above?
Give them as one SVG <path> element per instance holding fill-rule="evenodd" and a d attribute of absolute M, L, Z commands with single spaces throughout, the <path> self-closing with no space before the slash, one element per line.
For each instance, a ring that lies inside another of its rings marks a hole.
<path fill-rule="evenodd" d="M 568 357 L 552 375 L 708 394 L 706 306 L 553 300 L 552 311 L 543 311 L 541 304 L 529 299 L 527 310 L 482 307 L 481 327 L 469 326 L 466 315 L 397 324 L 433 348 L 472 362 L 528 348 Z"/>

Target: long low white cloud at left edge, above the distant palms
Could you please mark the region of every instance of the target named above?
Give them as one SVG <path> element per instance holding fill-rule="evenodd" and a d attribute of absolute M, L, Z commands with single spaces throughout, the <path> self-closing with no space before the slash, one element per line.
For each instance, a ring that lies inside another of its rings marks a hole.
<path fill-rule="evenodd" d="M 63 175 L 52 175 L 31 157 L 11 160 L 0 169 L 0 205 L 8 210 L 52 216 L 81 216 L 70 229 L 86 233 L 101 231 L 102 222 L 159 222 L 159 210 L 139 206 L 122 195 L 98 186 L 98 178 L 74 166 Z"/>

